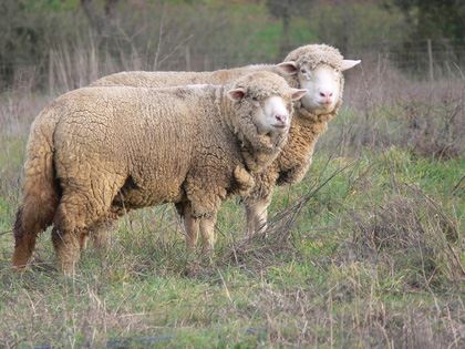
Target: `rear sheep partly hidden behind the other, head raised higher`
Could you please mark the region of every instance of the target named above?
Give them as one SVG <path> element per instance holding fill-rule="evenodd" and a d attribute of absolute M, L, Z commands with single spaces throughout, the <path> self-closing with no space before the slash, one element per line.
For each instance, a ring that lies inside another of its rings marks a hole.
<path fill-rule="evenodd" d="M 359 63 L 360 60 L 344 60 L 333 47 L 308 44 L 291 51 L 277 65 L 248 65 L 216 72 L 122 72 L 104 76 L 92 85 L 227 83 L 231 76 L 268 70 L 283 76 L 293 88 L 307 89 L 309 92 L 297 102 L 287 145 L 267 171 L 260 174 L 256 189 L 245 197 L 247 229 L 252 234 L 266 229 L 267 208 L 275 186 L 298 183 L 306 175 L 318 137 L 342 104 L 342 72 Z"/>

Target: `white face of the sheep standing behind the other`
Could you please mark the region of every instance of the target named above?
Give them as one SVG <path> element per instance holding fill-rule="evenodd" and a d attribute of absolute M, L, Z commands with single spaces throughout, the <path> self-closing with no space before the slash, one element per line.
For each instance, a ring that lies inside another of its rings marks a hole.
<path fill-rule="evenodd" d="M 310 70 L 302 65 L 298 72 L 299 84 L 309 92 L 303 106 L 316 114 L 331 113 L 340 99 L 342 74 L 332 66 L 320 64 Z"/>

